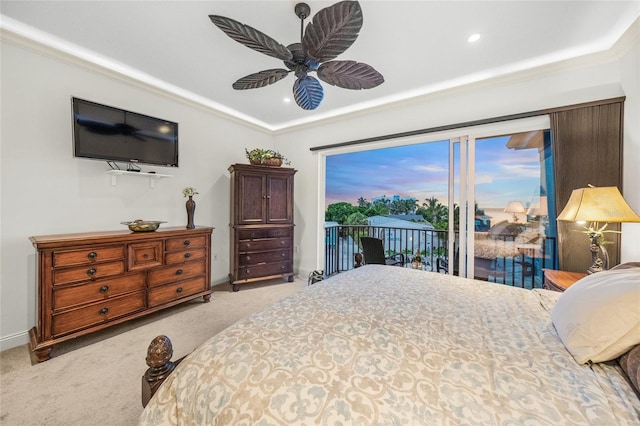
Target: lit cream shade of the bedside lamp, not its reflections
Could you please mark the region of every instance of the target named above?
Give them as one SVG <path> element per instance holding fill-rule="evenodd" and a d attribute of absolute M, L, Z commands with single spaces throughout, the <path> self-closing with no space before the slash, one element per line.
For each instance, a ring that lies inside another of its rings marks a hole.
<path fill-rule="evenodd" d="M 574 189 L 558 220 L 568 222 L 640 222 L 640 216 L 615 186 Z"/>

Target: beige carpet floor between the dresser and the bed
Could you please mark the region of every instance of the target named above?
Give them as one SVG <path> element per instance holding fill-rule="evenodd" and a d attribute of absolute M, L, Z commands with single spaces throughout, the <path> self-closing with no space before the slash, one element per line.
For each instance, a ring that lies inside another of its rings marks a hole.
<path fill-rule="evenodd" d="M 239 292 L 214 287 L 202 298 L 145 318 L 74 339 L 32 365 L 28 347 L 0 352 L 0 424 L 135 425 L 142 411 L 141 376 L 149 342 L 160 334 L 173 342 L 174 357 L 253 312 L 302 290 L 306 281 L 247 284 Z"/>

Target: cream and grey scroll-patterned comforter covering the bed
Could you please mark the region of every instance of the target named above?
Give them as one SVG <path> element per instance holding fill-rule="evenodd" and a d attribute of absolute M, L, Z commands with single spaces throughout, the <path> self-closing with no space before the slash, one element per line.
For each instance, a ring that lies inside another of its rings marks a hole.
<path fill-rule="evenodd" d="M 204 343 L 140 425 L 640 425 L 617 365 L 578 365 L 560 293 L 369 265 Z"/>

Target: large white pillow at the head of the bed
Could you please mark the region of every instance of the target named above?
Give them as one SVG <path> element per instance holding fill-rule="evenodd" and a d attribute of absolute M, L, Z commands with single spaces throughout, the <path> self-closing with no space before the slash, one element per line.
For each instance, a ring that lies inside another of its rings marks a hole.
<path fill-rule="evenodd" d="M 562 293 L 551 320 L 580 364 L 624 354 L 640 343 L 640 268 L 582 278 Z"/>

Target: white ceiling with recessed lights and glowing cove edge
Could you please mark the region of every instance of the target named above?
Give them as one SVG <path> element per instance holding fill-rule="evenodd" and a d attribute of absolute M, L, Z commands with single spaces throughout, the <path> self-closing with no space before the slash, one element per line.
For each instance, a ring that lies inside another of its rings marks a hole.
<path fill-rule="evenodd" d="M 270 130 L 424 95 L 609 49 L 640 1 L 361 1 L 364 25 L 337 59 L 365 62 L 385 82 L 352 91 L 324 84 L 314 111 L 291 98 L 295 77 L 236 91 L 253 72 L 282 68 L 227 37 L 208 15 L 236 19 L 288 45 L 297 1 L 11 1 L 6 30 L 125 72 Z M 308 1 L 312 16 L 335 1 Z M 306 22 L 308 22 L 307 20 Z M 481 34 L 470 44 L 469 35 Z M 99 100 L 96 100 L 99 101 Z"/>

